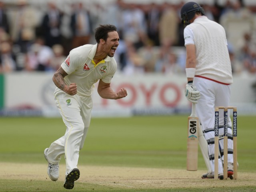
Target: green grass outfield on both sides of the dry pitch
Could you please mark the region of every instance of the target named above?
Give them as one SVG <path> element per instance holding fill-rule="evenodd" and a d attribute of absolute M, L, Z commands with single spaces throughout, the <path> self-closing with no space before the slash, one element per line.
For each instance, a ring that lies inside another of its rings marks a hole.
<path fill-rule="evenodd" d="M 237 122 L 238 171 L 256 176 L 256 116 L 238 116 Z M 0 162 L 47 166 L 43 151 L 54 140 L 63 136 L 65 130 L 61 118 L 0 117 Z M 186 136 L 187 116 L 92 118 L 84 148 L 80 151 L 78 167 L 84 165 L 186 170 Z M 64 158 L 60 164 L 65 166 Z M 200 152 L 198 169 L 206 171 Z M 58 185 L 58 182 L 49 184 L 45 180 L 9 180 L 8 173 L 6 178 L 0 180 L 0 192 L 64 191 L 60 186 L 62 185 Z M 212 190 L 207 187 L 184 188 L 182 184 L 175 189 L 137 190 L 76 182 L 73 191 L 87 191 L 85 188 L 97 192 L 256 191 L 256 184 L 253 180 L 251 185 L 234 184 L 234 188 L 220 186 Z"/>

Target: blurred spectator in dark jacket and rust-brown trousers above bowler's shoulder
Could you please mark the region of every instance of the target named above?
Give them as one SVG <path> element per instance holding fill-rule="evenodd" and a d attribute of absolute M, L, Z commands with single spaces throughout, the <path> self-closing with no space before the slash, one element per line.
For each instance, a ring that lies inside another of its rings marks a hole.
<path fill-rule="evenodd" d="M 83 7 L 82 2 L 74 6 L 70 27 L 73 35 L 72 49 L 89 44 L 92 34 L 92 23 L 90 13 Z"/>

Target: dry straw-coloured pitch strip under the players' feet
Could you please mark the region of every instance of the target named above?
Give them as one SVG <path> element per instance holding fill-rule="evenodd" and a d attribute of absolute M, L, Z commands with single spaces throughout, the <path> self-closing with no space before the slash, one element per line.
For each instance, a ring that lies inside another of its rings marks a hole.
<path fill-rule="evenodd" d="M 48 180 L 52 182 L 47 175 L 47 163 L 17 164 L 0 162 L 0 167 L 0 179 Z M 256 173 L 238 172 L 238 180 L 202 180 L 200 177 L 204 173 L 202 170 L 191 172 L 179 169 L 111 166 L 79 166 L 78 168 L 81 175 L 77 182 L 119 188 L 256 186 Z M 64 177 L 65 166 L 60 165 L 60 178 L 57 182 L 64 182 Z"/>

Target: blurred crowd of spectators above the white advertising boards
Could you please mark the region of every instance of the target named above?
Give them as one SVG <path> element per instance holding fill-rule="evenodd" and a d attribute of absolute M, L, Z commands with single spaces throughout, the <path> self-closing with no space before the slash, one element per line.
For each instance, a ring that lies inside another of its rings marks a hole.
<path fill-rule="evenodd" d="M 118 28 L 120 44 L 114 57 L 121 73 L 184 73 L 183 4 L 116 0 L 32 6 L 26 0 L 0 0 L 0 73 L 56 71 L 70 50 L 96 44 L 94 29 L 99 24 Z M 224 6 L 201 5 L 206 16 L 226 30 L 233 73 L 256 74 L 256 4 L 227 0 Z"/>

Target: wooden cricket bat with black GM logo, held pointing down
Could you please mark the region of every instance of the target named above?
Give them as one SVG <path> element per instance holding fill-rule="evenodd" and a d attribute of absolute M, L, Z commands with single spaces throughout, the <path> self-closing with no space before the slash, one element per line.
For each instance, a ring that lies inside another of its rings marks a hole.
<path fill-rule="evenodd" d="M 192 103 L 192 112 L 188 117 L 187 139 L 187 170 L 196 171 L 198 166 L 198 128 L 199 120 L 196 116 L 196 104 Z"/>

